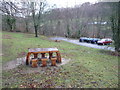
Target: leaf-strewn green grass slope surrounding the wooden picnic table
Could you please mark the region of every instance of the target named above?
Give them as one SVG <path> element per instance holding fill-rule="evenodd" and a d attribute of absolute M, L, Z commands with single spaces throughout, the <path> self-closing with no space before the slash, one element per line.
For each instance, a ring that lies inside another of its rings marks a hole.
<path fill-rule="evenodd" d="M 58 67 L 45 67 L 35 71 L 26 65 L 3 71 L 3 87 L 21 88 L 117 88 L 118 58 L 104 50 L 54 42 L 45 36 L 34 34 L 3 32 L 3 64 L 18 57 L 26 56 L 28 48 L 57 47 L 62 58 L 70 62 Z M 33 70 L 34 73 L 25 73 Z"/>

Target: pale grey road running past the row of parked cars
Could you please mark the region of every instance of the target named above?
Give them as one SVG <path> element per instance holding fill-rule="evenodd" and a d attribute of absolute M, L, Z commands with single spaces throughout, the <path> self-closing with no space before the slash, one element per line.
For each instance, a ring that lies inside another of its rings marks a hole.
<path fill-rule="evenodd" d="M 91 47 L 91 48 L 115 51 L 114 47 L 108 47 L 108 46 L 105 46 L 105 45 L 97 45 L 97 44 L 79 42 L 79 40 L 75 40 L 75 39 L 68 39 L 68 38 L 64 38 L 64 37 L 52 37 L 50 39 L 51 40 L 63 40 L 63 41 L 66 41 L 66 42 L 74 43 L 74 44 L 81 45 L 81 46 Z"/>

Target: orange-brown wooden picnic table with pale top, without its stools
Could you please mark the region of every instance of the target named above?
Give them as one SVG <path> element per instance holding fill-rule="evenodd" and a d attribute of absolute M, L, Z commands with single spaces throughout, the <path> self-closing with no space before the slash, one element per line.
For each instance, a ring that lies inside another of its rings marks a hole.
<path fill-rule="evenodd" d="M 51 59 L 53 53 L 56 53 L 57 61 L 61 63 L 61 55 L 57 48 L 30 48 L 26 56 L 26 65 L 29 65 L 31 54 L 34 55 L 34 58 L 37 58 L 39 53 L 41 54 L 41 58 L 44 58 L 45 54 L 49 53 L 49 59 Z"/>

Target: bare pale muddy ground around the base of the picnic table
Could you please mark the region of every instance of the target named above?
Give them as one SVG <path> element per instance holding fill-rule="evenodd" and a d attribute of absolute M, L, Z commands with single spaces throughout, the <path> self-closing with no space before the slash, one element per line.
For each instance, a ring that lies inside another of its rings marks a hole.
<path fill-rule="evenodd" d="M 67 64 L 69 61 L 70 61 L 70 59 L 62 58 L 62 63 L 57 63 L 56 67 L 57 67 L 57 66 L 64 65 L 64 64 Z M 16 68 L 16 67 L 18 67 L 18 66 L 20 66 L 20 65 L 26 66 L 25 63 L 26 63 L 26 57 L 17 58 L 16 60 L 12 60 L 12 61 L 9 61 L 9 62 L 7 62 L 6 64 L 4 64 L 4 65 L 2 66 L 2 70 L 14 69 L 14 68 Z M 37 69 L 42 68 L 40 65 L 38 65 L 37 68 L 32 68 L 30 65 L 27 66 L 27 67 L 30 68 L 30 71 L 28 70 L 28 72 L 31 72 L 31 71 L 35 72 L 35 71 L 38 71 Z M 51 67 L 51 62 L 49 62 L 49 63 L 47 64 L 47 67 Z"/>

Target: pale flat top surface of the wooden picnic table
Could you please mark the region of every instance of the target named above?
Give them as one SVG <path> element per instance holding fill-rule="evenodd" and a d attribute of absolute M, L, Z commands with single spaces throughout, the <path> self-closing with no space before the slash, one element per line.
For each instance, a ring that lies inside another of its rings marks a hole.
<path fill-rule="evenodd" d="M 29 52 L 49 52 L 49 51 L 58 51 L 57 48 L 30 48 Z"/>

